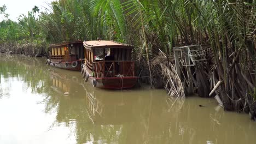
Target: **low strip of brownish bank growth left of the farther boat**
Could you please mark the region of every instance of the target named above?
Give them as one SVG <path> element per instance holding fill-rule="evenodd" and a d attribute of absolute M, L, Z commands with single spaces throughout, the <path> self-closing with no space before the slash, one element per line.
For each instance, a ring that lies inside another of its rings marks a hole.
<path fill-rule="evenodd" d="M 0 53 L 8 55 L 25 55 L 31 57 L 47 56 L 48 45 L 47 44 L 19 44 L 19 43 L 3 43 L 0 44 Z"/>

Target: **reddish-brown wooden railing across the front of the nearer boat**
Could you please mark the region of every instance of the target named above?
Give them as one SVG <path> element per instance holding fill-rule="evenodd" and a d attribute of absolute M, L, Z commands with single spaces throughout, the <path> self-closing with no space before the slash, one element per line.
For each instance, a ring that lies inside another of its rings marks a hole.
<path fill-rule="evenodd" d="M 135 63 L 132 61 L 93 62 L 94 77 L 135 76 Z"/>

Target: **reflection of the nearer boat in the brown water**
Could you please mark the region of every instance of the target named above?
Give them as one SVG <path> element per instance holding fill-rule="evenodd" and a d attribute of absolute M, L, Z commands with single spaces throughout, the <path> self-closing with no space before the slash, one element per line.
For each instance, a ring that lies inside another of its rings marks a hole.
<path fill-rule="evenodd" d="M 85 86 L 86 107 L 91 120 L 95 124 L 123 124 L 130 122 L 133 115 L 131 105 L 136 103 L 137 97 L 123 96 L 120 92 L 94 91 L 92 87 Z M 120 95 L 121 94 L 121 95 Z M 106 97 L 108 95 L 108 97 Z M 129 116 L 129 118 L 127 118 Z M 135 118 L 134 118 L 135 119 Z"/>

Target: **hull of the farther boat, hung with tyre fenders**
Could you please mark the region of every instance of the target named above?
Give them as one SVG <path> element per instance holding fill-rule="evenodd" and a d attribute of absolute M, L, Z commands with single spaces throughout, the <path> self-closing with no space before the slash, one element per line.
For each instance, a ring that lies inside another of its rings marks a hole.
<path fill-rule="evenodd" d="M 71 63 L 66 63 L 66 62 L 54 62 L 48 59 L 48 65 L 51 65 L 56 68 L 67 69 L 67 70 L 80 71 L 81 64 L 82 64 L 81 61 L 73 61 Z"/>

